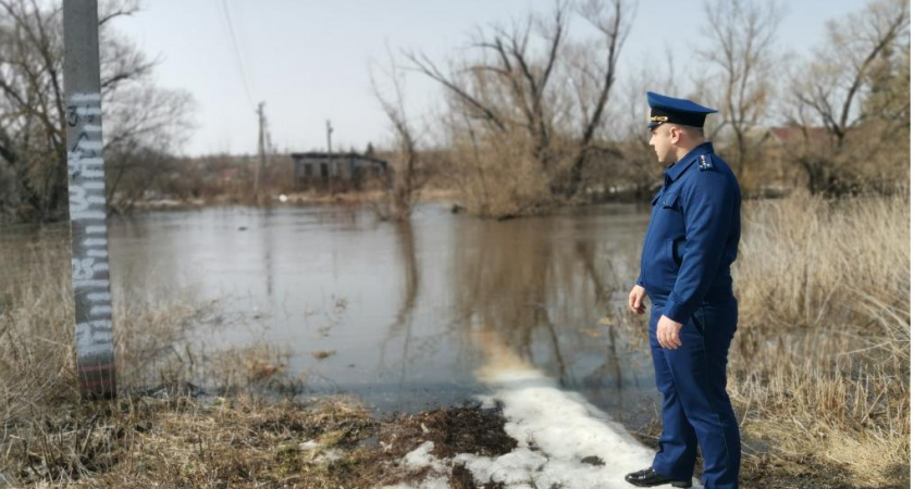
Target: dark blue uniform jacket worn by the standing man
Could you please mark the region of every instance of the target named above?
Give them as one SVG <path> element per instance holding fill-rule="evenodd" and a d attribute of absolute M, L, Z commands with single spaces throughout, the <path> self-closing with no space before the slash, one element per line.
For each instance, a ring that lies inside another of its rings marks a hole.
<path fill-rule="evenodd" d="M 732 296 L 740 201 L 737 178 L 711 142 L 664 172 L 664 186 L 651 201 L 638 285 L 670 319 L 684 324 L 702 301 Z"/>

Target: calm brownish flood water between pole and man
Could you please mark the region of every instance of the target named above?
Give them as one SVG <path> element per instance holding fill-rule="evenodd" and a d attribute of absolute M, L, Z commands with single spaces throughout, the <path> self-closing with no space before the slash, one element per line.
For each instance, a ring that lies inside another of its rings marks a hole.
<path fill-rule="evenodd" d="M 657 399 L 647 347 L 606 323 L 625 314 L 647 218 L 631 205 L 494 222 L 428 204 L 411 225 L 338 208 L 157 212 L 110 221 L 112 288 L 219 300 L 256 318 L 219 341 L 288 348 L 310 392 L 380 412 L 483 392 L 475 371 L 499 341 L 637 425 Z"/>

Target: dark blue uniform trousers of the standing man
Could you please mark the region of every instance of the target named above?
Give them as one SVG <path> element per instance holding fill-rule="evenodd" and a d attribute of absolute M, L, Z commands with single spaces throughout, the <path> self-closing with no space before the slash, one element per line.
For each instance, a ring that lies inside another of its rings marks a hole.
<path fill-rule="evenodd" d="M 737 301 L 705 302 L 682 325 L 682 346 L 657 342 L 663 298 L 652 298 L 651 354 L 663 393 L 663 434 L 653 468 L 674 479 L 691 479 L 702 447 L 707 489 L 736 488 L 740 471 L 740 432 L 727 396 L 727 352 L 737 330 Z"/>

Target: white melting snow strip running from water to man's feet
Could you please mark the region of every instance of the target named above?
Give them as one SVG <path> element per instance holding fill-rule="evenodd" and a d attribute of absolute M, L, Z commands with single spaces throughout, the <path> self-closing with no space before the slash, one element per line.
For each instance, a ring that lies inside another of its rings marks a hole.
<path fill-rule="evenodd" d="M 465 464 L 480 485 L 493 481 L 504 482 L 510 489 L 629 489 L 632 486 L 625 481 L 625 475 L 651 465 L 654 451 L 583 397 L 560 390 L 554 379 L 492 337 L 482 337 L 480 347 L 486 352 L 489 364 L 478 376 L 494 391 L 483 402 L 502 404 L 507 418 L 505 432 L 517 440 L 517 448 L 497 457 L 461 453 L 437 460 L 431 453 L 434 444 L 427 441 L 408 453 L 404 464 L 432 467 L 431 475 L 419 486 L 391 489 L 446 488 L 447 474 L 455 464 Z M 589 456 L 600 457 L 605 465 L 581 462 Z M 701 488 L 696 480 L 693 484 Z"/>

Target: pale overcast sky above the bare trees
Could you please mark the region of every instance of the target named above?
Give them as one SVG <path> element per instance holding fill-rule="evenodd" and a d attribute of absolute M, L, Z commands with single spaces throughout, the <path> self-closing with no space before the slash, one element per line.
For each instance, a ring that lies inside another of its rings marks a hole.
<path fill-rule="evenodd" d="M 197 129 L 184 147 L 187 154 L 256 151 L 258 101 L 267 103 L 273 143 L 281 151 L 323 150 L 326 120 L 335 129 L 334 148 L 362 150 L 369 141 L 382 146 L 388 134 L 369 75 L 372 60 L 386 60 L 385 45 L 395 52 L 422 50 L 435 60 L 455 58 L 475 26 L 507 23 L 531 10 L 547 12 L 553 4 L 553 0 L 146 0 L 140 13 L 119 20 L 115 27 L 161 60 L 156 68 L 160 86 L 194 96 Z M 805 54 L 822 42 L 826 21 L 866 4 L 865 0 L 790 2 L 779 45 Z M 694 59 L 693 51 L 704 41 L 701 33 L 707 28 L 703 17 L 699 0 L 638 1 L 620 78 L 641 70 L 644 60 L 663 60 L 665 47 L 679 60 Z M 437 90 L 420 75 L 410 75 L 410 110 L 427 111 Z"/>

